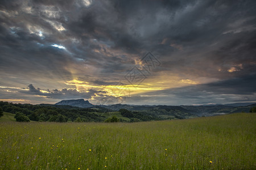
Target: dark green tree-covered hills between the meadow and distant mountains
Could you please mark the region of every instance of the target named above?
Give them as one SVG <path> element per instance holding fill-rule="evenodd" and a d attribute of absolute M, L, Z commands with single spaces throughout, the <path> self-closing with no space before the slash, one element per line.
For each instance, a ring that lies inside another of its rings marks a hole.
<path fill-rule="evenodd" d="M 151 120 L 164 120 L 155 114 L 120 109 L 119 114 L 122 118 L 105 117 L 104 113 L 110 114 L 116 111 L 102 107 L 77 108 L 64 105 L 51 104 L 14 104 L 0 101 L 0 111 L 15 114 L 16 121 L 49 121 L 49 122 L 139 122 Z M 1 112 L 0 112 L 1 113 Z M 109 114 L 109 115 L 110 115 Z M 123 119 L 123 118 L 126 118 Z M 128 118 L 128 119 L 127 119 Z"/>

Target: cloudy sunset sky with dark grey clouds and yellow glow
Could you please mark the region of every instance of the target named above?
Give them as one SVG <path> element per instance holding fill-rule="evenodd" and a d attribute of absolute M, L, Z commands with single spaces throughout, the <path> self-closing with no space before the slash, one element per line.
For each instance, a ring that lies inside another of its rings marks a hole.
<path fill-rule="evenodd" d="M 0 1 L 0 101 L 256 102 L 256 1 Z"/>

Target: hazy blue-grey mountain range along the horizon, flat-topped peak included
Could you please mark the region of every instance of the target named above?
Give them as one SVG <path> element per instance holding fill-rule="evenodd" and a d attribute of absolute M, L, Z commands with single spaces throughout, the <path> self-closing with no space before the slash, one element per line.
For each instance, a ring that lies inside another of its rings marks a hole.
<path fill-rule="evenodd" d="M 232 104 L 209 104 L 209 105 L 129 105 L 129 104 L 113 104 L 113 105 L 93 105 L 88 100 L 62 100 L 55 105 L 60 107 L 79 107 L 94 108 L 108 112 L 119 111 L 119 109 L 127 109 L 133 112 L 143 112 L 155 114 L 162 118 L 191 118 L 201 116 L 214 116 L 218 114 L 229 114 L 236 112 L 249 112 L 255 103 L 232 103 Z"/>

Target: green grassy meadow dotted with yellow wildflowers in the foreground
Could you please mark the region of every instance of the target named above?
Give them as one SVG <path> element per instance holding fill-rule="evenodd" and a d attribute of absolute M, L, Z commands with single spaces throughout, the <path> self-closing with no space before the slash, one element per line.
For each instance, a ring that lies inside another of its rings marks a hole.
<path fill-rule="evenodd" d="M 125 123 L 0 122 L 0 169 L 255 169 L 256 114 Z"/>

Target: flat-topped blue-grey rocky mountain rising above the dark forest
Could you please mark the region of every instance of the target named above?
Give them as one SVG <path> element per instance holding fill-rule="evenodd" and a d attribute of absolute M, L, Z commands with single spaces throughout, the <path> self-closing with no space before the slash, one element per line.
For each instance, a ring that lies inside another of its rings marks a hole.
<path fill-rule="evenodd" d="M 90 104 L 88 100 L 84 99 L 77 99 L 77 100 L 61 100 L 60 102 L 56 103 L 55 105 L 70 105 L 72 107 L 79 107 L 79 108 L 90 108 L 93 107 L 93 104 Z"/>

